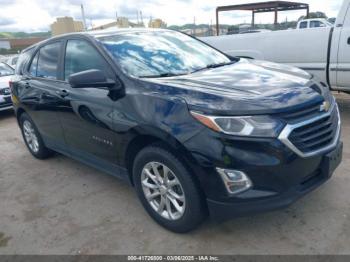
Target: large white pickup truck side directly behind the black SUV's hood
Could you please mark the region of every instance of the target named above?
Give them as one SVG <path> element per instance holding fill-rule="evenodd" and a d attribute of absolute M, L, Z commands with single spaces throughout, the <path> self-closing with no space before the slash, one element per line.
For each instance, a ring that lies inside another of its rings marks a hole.
<path fill-rule="evenodd" d="M 201 38 L 231 56 L 269 60 L 304 69 L 333 90 L 350 92 L 350 0 L 334 27 Z"/>

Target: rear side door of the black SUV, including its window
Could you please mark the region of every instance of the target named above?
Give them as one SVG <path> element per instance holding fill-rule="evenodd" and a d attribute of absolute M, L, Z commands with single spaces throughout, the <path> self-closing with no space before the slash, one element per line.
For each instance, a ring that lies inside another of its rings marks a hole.
<path fill-rule="evenodd" d="M 62 41 L 39 48 L 19 82 L 19 96 L 26 111 L 39 129 L 45 144 L 64 148 L 64 137 L 58 112 L 65 106 L 59 93 L 59 66 Z"/>

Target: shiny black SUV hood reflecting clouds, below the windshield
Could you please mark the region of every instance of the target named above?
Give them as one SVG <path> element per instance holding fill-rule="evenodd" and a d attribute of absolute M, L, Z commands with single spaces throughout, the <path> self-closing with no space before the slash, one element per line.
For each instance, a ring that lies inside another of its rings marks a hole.
<path fill-rule="evenodd" d="M 160 95 L 181 98 L 191 110 L 216 115 L 279 113 L 324 100 L 303 70 L 256 60 L 151 82 Z"/>

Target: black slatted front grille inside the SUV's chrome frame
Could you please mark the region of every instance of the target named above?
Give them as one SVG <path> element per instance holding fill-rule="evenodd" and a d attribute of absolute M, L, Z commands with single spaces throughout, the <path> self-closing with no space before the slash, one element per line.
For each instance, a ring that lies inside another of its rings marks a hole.
<path fill-rule="evenodd" d="M 302 153 L 321 150 L 334 142 L 338 132 L 338 111 L 334 107 L 329 115 L 293 129 L 289 141 Z"/>

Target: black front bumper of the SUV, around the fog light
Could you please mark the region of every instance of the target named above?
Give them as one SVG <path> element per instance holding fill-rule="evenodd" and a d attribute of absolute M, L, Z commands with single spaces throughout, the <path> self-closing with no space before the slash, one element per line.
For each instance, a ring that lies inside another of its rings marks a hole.
<path fill-rule="evenodd" d="M 217 221 L 290 205 L 332 176 L 343 149 L 338 137 L 328 151 L 302 157 L 278 139 L 237 138 L 208 129 L 184 145 Z M 244 172 L 253 187 L 230 195 L 216 168 Z"/>

